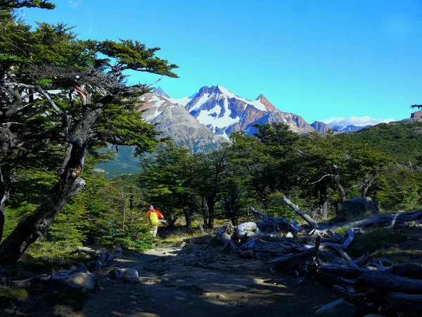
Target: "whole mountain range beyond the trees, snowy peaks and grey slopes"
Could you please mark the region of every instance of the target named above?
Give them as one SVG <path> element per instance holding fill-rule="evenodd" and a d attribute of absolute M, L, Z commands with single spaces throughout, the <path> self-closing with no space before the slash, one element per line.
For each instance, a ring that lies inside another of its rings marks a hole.
<path fill-rule="evenodd" d="M 210 151 L 229 142 L 231 132 L 243 130 L 253 135 L 255 123 L 286 123 L 293 132 L 301 134 L 314 130 L 324 133 L 364 128 L 354 125 L 331 127 L 319 121 L 309 125 L 295 113 L 279 111 L 263 94 L 255 100 L 248 100 L 220 85 L 202 87 L 195 94 L 181 99 L 174 99 L 157 87 L 139 100 L 138 111 L 143 111 L 147 122 L 157 124 L 156 129 L 162 131 L 162 137 L 172 137 L 174 144 L 187 147 L 193 153 Z M 139 170 L 138 162 L 131 147 L 119 147 L 116 160 L 101 163 L 98 168 L 134 173 Z"/>

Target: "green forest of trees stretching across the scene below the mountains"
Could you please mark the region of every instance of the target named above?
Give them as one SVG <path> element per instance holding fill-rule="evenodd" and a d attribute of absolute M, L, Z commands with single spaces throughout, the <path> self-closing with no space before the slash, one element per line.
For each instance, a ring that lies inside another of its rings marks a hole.
<path fill-rule="evenodd" d="M 63 23 L 32 28 L 15 10 L 23 7 L 54 5 L 0 4 L 1 266 L 92 244 L 151 249 L 161 238 L 144 216 L 150 204 L 165 216 L 160 229 L 187 235 L 236 227 L 253 210 L 305 224 L 282 197 L 327 226 L 353 220 L 338 210 L 356 197 L 383 214 L 421 209 L 420 121 L 307 135 L 255 124 L 255 135 L 234 132 L 219 149 L 192 154 L 137 111 L 153 83 L 127 80 L 129 70 L 177 77 L 160 48 L 82 40 Z M 139 174 L 98 173 L 113 159 L 101 151 L 108 144 L 133 147 Z"/>

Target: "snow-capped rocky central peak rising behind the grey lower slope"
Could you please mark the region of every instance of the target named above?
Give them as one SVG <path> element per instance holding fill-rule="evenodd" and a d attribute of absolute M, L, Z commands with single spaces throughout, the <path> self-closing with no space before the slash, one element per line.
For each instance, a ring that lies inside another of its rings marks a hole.
<path fill-rule="evenodd" d="M 264 95 L 255 100 L 238 97 L 222 86 L 202 87 L 190 97 L 172 99 L 164 97 L 172 104 L 184 106 L 188 113 L 207 126 L 216 135 L 228 138 L 231 132 L 245 130 L 255 132 L 254 123 L 286 123 L 294 132 L 314 130 L 302 117 L 285 113 L 274 107 Z"/>

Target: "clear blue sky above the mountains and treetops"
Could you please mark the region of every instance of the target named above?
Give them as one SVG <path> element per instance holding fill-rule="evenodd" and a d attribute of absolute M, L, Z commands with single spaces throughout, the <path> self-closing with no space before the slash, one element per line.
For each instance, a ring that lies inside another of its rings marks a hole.
<path fill-rule="evenodd" d="M 246 99 L 264 94 L 309 123 L 401 120 L 422 104 L 421 0 L 52 2 L 24 18 L 76 25 L 84 39 L 160 46 L 158 56 L 180 66 L 179 79 L 158 84 L 174 98 L 222 85 Z"/>

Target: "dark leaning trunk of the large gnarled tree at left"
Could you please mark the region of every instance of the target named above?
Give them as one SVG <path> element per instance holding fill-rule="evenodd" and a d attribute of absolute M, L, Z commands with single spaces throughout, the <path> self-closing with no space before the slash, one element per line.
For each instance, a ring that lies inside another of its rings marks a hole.
<path fill-rule="evenodd" d="M 18 223 L 6 240 L 0 244 L 0 266 L 13 264 L 27 248 L 38 238 L 44 239 L 46 231 L 63 206 L 85 185 L 85 181 L 79 177 L 79 173 L 84 168 L 85 155 L 87 153 L 87 135 L 91 126 L 100 116 L 103 108 L 113 100 L 113 95 L 106 95 L 99 99 L 96 104 L 89 104 L 90 96 L 84 92 L 84 98 L 81 98 L 84 107 L 84 114 L 79 122 L 75 123 L 72 129 L 73 135 L 68 132 L 70 126 L 70 117 L 60 111 L 54 104 L 48 94 L 40 91 L 49 101 L 51 106 L 63 116 L 63 130 L 70 143 L 65 152 L 62 164 L 62 173 L 60 180 L 54 185 L 46 199 L 39 204 L 38 208 L 31 216 L 24 218 Z M 87 97 L 88 96 L 88 97 Z"/>

